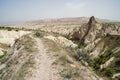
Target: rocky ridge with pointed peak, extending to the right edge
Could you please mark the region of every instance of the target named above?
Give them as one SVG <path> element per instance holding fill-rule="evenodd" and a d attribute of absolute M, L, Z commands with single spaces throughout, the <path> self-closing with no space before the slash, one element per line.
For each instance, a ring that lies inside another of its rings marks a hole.
<path fill-rule="evenodd" d="M 81 25 L 79 29 L 71 33 L 71 39 L 79 39 L 82 43 L 92 43 L 102 36 L 120 35 L 119 23 L 99 23 L 95 17 L 90 17 L 88 23 Z"/>

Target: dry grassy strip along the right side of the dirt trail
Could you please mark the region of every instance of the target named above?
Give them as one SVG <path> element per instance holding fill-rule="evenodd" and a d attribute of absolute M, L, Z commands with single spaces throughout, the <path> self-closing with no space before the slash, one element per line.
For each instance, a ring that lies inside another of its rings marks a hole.
<path fill-rule="evenodd" d="M 59 74 L 69 80 L 79 79 L 79 69 L 72 67 L 73 61 L 70 59 L 69 53 L 55 42 L 43 39 L 45 47 L 48 48 L 48 53 L 55 58 L 53 66 L 58 69 Z"/>

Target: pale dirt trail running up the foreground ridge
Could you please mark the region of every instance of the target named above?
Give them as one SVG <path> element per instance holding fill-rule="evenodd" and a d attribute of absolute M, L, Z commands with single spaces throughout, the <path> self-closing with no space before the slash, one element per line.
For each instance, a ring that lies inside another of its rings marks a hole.
<path fill-rule="evenodd" d="M 52 68 L 53 59 L 50 58 L 42 43 L 42 40 L 36 39 L 39 54 L 36 56 L 35 69 L 27 80 L 64 80 L 61 78 L 57 70 Z"/>

